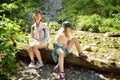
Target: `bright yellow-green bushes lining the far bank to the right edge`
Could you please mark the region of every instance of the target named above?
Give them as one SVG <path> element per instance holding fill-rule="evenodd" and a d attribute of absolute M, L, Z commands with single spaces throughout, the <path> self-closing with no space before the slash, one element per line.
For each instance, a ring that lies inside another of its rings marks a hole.
<path fill-rule="evenodd" d="M 120 30 L 120 20 L 118 18 L 103 18 L 97 14 L 78 16 L 75 24 L 77 30 L 91 32 L 119 32 Z"/>

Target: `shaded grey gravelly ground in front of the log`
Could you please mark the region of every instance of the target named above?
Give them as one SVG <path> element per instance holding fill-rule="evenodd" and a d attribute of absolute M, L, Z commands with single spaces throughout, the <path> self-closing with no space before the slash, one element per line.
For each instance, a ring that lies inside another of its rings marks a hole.
<path fill-rule="evenodd" d="M 59 80 L 59 71 L 53 71 L 53 65 L 45 65 L 42 71 L 35 69 L 40 77 L 34 76 L 34 74 L 29 74 L 26 76 L 21 76 L 24 71 L 29 70 L 29 68 L 23 68 L 23 70 L 18 70 L 16 74 L 14 74 L 11 79 L 12 80 Z M 20 72 L 20 73 L 19 73 Z M 49 73 L 49 74 L 48 74 Z M 96 75 L 97 74 L 97 75 Z M 44 76 L 43 76 L 44 75 Z M 65 75 L 67 80 L 102 80 L 104 75 L 100 73 L 96 73 L 94 71 L 85 70 L 83 68 L 68 68 L 65 66 Z M 102 76 L 100 78 L 100 76 Z"/>

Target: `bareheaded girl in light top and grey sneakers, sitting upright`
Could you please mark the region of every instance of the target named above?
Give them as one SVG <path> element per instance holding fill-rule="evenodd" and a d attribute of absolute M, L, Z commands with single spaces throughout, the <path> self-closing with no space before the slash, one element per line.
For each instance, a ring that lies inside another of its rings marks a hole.
<path fill-rule="evenodd" d="M 29 46 L 29 56 L 31 63 L 29 67 L 40 68 L 43 66 L 42 58 L 39 49 L 46 48 L 49 37 L 49 29 L 42 22 L 42 14 L 40 11 L 37 11 L 33 15 L 35 23 L 31 26 L 31 42 Z M 37 57 L 38 61 L 35 62 L 34 57 Z"/>

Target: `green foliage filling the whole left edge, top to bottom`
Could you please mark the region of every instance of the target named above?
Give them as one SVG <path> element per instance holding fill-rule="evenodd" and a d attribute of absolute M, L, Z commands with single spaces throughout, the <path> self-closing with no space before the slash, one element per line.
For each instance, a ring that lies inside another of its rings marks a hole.
<path fill-rule="evenodd" d="M 25 30 L 28 25 L 24 16 L 35 4 L 33 0 L 0 1 L 0 54 L 6 54 L 0 59 L 1 80 L 9 80 L 17 71 L 19 62 L 15 59 L 15 53 L 20 49 L 16 47 L 16 41 L 26 41 Z"/>

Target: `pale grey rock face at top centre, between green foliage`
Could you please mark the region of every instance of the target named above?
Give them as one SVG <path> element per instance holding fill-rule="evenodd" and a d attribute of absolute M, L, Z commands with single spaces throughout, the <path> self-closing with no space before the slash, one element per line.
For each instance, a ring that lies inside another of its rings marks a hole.
<path fill-rule="evenodd" d="M 62 9 L 62 0 L 45 0 L 46 20 L 53 21 Z"/>

